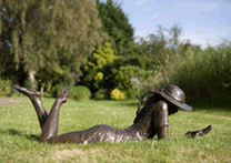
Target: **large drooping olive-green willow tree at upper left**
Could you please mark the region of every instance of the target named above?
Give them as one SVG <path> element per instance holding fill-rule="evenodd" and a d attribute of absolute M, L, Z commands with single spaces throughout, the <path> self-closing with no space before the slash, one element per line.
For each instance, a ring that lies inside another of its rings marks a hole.
<path fill-rule="evenodd" d="M 1 0 L 0 7 L 1 49 L 10 49 L 31 83 L 38 74 L 77 80 L 81 62 L 101 42 L 96 0 Z"/>

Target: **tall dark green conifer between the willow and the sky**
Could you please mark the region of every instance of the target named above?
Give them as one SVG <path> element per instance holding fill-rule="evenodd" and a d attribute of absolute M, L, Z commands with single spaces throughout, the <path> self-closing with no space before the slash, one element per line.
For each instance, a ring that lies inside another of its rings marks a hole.
<path fill-rule="evenodd" d="M 97 7 L 102 21 L 102 30 L 108 33 L 108 41 L 112 43 L 114 53 L 130 53 L 134 31 L 129 23 L 128 16 L 121 9 L 121 3 L 118 4 L 113 0 L 107 0 L 106 3 L 98 1 Z"/>

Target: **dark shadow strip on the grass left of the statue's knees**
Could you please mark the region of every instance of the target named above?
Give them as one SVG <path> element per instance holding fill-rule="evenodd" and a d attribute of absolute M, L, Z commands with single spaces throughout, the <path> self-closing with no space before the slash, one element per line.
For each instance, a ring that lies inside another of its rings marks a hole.
<path fill-rule="evenodd" d="M 0 131 L 0 133 L 10 134 L 10 135 L 13 135 L 13 136 L 23 136 L 23 137 L 27 137 L 28 140 L 31 140 L 31 141 L 39 141 L 39 136 L 38 135 L 34 135 L 34 134 L 23 134 L 21 131 L 18 131 L 18 130 L 14 130 L 14 129 Z"/>

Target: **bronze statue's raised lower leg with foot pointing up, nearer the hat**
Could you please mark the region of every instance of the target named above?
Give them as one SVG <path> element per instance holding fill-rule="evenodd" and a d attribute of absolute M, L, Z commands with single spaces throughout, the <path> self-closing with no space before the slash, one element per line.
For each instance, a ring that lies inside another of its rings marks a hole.
<path fill-rule="evenodd" d="M 59 111 L 62 103 L 67 102 L 67 98 L 69 94 L 69 89 L 66 86 L 62 89 L 62 92 L 57 98 L 51 111 L 48 115 L 48 119 L 42 128 L 42 134 L 40 136 L 40 141 L 46 141 L 51 136 L 57 135 L 58 133 L 58 125 L 59 125 Z"/>

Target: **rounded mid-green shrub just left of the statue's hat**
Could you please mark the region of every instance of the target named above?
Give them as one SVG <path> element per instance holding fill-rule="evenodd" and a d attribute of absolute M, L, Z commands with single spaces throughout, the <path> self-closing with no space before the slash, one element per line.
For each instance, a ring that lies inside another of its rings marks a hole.
<path fill-rule="evenodd" d="M 128 98 L 140 98 L 141 93 L 147 88 L 143 85 L 144 81 L 152 75 L 154 75 L 153 71 L 145 71 L 139 67 L 120 67 L 116 74 L 117 86 L 125 91 Z"/>

